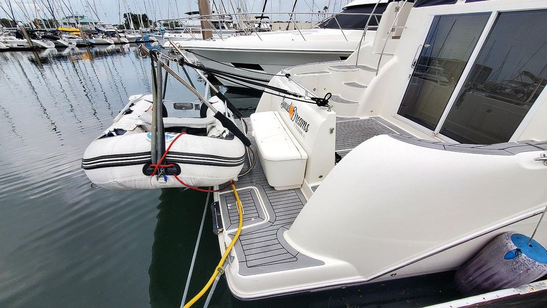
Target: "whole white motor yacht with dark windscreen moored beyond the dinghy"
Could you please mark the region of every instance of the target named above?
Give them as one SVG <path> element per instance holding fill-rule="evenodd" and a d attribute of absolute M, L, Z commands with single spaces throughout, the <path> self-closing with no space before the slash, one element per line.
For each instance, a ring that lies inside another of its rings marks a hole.
<path fill-rule="evenodd" d="M 268 82 L 271 74 L 290 66 L 346 59 L 363 38 L 369 18 L 370 29 L 364 41 L 374 39 L 377 20 L 386 5 L 387 0 L 357 0 L 308 30 L 260 31 L 223 40 L 187 40 L 179 42 L 179 46 L 193 53 L 206 67 Z M 258 22 L 253 22 L 258 27 Z M 219 80 L 225 85 L 239 86 L 228 79 Z"/>

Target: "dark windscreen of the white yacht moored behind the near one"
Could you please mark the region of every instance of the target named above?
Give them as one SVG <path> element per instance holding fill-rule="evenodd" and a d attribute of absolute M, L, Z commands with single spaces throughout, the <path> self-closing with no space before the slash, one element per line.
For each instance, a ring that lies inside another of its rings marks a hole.
<path fill-rule="evenodd" d="M 376 4 L 374 4 L 376 5 Z M 342 11 L 342 13 L 352 13 L 352 14 L 370 14 L 373 9 L 374 5 L 362 5 L 359 7 L 350 7 Z M 376 7 L 375 14 L 382 14 L 383 11 L 386 10 L 387 3 L 380 3 Z M 373 16 L 373 18 L 370 19 L 369 26 L 377 26 L 377 21 L 380 21 L 381 16 Z M 340 24 L 340 28 L 342 29 L 356 29 L 356 30 L 363 30 L 366 26 L 366 22 L 369 20 L 369 15 L 341 15 L 336 14 L 336 20 Z M 338 24 L 336 23 L 336 20 L 334 18 L 329 18 L 325 21 L 323 21 L 318 26 L 320 28 L 333 28 L 338 29 Z"/>

